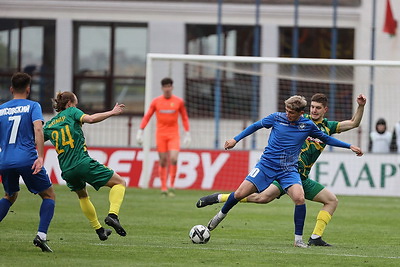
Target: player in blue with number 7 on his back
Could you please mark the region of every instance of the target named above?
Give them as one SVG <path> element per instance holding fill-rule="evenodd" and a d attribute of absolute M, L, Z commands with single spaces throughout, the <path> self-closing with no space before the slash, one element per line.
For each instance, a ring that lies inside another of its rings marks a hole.
<path fill-rule="evenodd" d="M 5 191 L 0 199 L 0 221 L 17 200 L 21 176 L 28 190 L 42 198 L 33 244 L 43 252 L 53 252 L 47 244 L 47 230 L 54 215 L 55 193 L 43 167 L 42 108 L 27 99 L 30 83 L 28 74 L 15 73 L 10 88 L 13 99 L 0 105 L 0 175 Z"/>

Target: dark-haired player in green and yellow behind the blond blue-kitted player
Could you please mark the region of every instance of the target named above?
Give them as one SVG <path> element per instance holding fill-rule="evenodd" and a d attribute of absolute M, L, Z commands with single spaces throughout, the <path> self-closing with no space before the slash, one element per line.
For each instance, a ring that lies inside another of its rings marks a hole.
<path fill-rule="evenodd" d="M 367 99 L 363 94 L 358 95 L 358 107 L 351 119 L 340 122 L 329 121 L 325 118 L 325 114 L 328 111 L 328 98 L 324 94 L 314 94 L 311 98 L 310 114 L 305 114 L 304 117 L 312 120 L 321 131 L 324 131 L 328 135 L 342 133 L 357 128 L 360 125 L 366 102 Z M 307 138 L 302 146 L 299 157 L 299 173 L 303 183 L 305 198 L 323 204 L 323 207 L 318 213 L 317 222 L 312 235 L 308 240 L 308 245 L 311 246 L 331 246 L 329 243 L 322 240 L 322 235 L 338 205 L 338 199 L 334 193 L 330 192 L 319 182 L 309 178 L 312 166 L 317 161 L 322 151 L 324 151 L 325 147 L 326 144 L 322 143 L 320 140 Z M 274 181 L 266 190 L 261 193 L 251 194 L 243 198 L 240 202 L 266 204 L 274 199 L 280 198 L 284 194 L 285 191 L 279 183 Z M 229 194 L 211 194 L 202 197 L 196 203 L 196 206 L 202 208 L 216 203 L 224 203 L 228 197 Z"/>

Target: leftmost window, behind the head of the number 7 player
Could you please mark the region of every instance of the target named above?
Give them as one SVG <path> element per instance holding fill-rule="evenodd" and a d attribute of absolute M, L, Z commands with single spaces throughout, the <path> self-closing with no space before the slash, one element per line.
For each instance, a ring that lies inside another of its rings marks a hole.
<path fill-rule="evenodd" d="M 30 99 L 43 112 L 52 112 L 54 96 L 55 22 L 51 20 L 0 19 L 0 86 L 9 88 L 14 72 L 32 76 Z M 1 90 L 0 101 L 12 96 Z"/>

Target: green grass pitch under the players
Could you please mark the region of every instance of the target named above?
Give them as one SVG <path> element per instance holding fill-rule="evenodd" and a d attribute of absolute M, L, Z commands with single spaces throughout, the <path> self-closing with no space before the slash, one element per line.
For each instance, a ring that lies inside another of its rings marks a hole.
<path fill-rule="evenodd" d="M 285 196 L 268 205 L 238 204 L 211 232 L 207 244 L 188 237 L 206 225 L 222 204 L 195 207 L 211 191 L 129 188 L 120 212 L 128 235 L 114 231 L 100 241 L 79 208 L 75 193 L 55 186 L 56 211 L 48 233 L 54 253 L 32 244 L 40 197 L 22 187 L 0 223 L 0 266 L 400 266 L 400 198 L 339 196 L 324 239 L 333 247 L 293 247 L 293 204 Z M 89 188 L 101 223 L 108 212 L 108 188 Z M 307 202 L 308 240 L 319 203 Z"/>

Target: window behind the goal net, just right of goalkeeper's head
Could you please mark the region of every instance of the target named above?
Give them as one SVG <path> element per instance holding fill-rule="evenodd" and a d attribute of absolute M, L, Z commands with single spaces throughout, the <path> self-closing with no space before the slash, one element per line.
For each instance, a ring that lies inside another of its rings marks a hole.
<path fill-rule="evenodd" d="M 218 35 L 216 25 L 187 25 L 186 50 L 188 54 L 216 55 Z M 261 39 L 261 38 L 260 38 Z M 221 55 L 252 56 L 254 26 L 222 26 Z M 257 51 L 258 53 L 258 51 Z M 235 63 L 224 63 L 226 70 L 220 71 L 221 118 L 250 119 L 258 114 L 258 77 L 239 74 L 229 69 Z M 189 116 L 212 117 L 215 109 L 216 71 L 186 70 L 185 100 Z M 253 87 L 253 90 L 251 88 Z M 248 90 L 250 88 L 250 90 Z M 256 96 L 254 97 L 254 94 Z M 218 105 L 218 103 L 217 103 Z"/>

